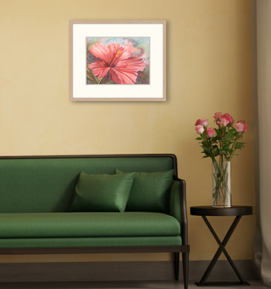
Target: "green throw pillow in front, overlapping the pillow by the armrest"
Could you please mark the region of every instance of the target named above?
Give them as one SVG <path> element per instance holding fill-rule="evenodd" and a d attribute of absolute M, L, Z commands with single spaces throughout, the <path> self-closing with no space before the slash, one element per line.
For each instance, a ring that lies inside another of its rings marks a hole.
<path fill-rule="evenodd" d="M 81 171 L 69 211 L 124 212 L 135 175 L 88 175 Z"/>

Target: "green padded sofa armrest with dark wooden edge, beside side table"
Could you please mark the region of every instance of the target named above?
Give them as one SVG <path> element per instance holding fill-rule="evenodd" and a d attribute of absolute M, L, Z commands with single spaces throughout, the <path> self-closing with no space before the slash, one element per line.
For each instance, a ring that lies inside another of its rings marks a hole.
<path fill-rule="evenodd" d="M 183 245 L 188 244 L 188 221 L 186 210 L 186 182 L 174 178 L 170 187 L 170 216 L 176 218 L 181 224 L 181 238 Z"/>

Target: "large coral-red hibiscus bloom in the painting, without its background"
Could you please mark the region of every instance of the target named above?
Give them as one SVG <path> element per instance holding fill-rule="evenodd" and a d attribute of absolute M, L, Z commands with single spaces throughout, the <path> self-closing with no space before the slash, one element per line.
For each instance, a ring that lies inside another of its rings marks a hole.
<path fill-rule="evenodd" d="M 131 43 L 120 47 L 119 43 L 106 46 L 103 42 L 97 42 L 90 47 L 90 52 L 100 59 L 88 65 L 93 75 L 103 78 L 109 71 L 111 79 L 117 84 L 135 84 L 138 71 L 146 67 L 142 58 L 131 56 Z"/>

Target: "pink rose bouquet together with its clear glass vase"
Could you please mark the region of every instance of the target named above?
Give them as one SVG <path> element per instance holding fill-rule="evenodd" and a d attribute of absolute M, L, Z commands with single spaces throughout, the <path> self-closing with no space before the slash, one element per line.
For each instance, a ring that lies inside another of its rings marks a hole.
<path fill-rule="evenodd" d="M 233 127 L 234 120 L 229 114 L 215 113 L 217 128 L 208 127 L 208 119 L 198 119 L 195 130 L 203 149 L 204 157 L 213 161 L 213 206 L 231 207 L 230 162 L 236 150 L 245 148 L 241 142 L 249 128 L 244 120 Z M 219 156 L 219 160 L 216 157 Z"/>

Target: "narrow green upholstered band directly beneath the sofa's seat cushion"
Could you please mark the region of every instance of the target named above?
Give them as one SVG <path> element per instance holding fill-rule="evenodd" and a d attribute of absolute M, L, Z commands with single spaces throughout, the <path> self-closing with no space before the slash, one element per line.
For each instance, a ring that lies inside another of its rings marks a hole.
<path fill-rule="evenodd" d="M 3 238 L 0 248 L 181 246 L 181 236 Z"/>

